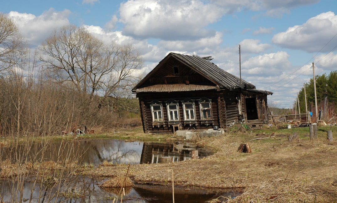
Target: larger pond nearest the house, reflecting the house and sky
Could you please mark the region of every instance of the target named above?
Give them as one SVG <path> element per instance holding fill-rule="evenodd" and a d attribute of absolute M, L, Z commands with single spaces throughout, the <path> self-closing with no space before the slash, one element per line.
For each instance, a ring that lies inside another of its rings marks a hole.
<path fill-rule="evenodd" d="M 122 140 L 75 140 L 74 142 L 53 142 L 31 146 L 2 147 L 1 157 L 15 157 L 15 151 L 28 153 L 34 160 L 60 161 L 78 160 L 79 163 L 93 165 L 104 161 L 112 164 L 160 163 L 160 157 L 169 156 L 175 162 L 185 161 L 197 150 L 200 158 L 213 154 L 210 150 L 189 143 L 125 142 Z M 69 156 L 71 154 L 71 156 Z"/>

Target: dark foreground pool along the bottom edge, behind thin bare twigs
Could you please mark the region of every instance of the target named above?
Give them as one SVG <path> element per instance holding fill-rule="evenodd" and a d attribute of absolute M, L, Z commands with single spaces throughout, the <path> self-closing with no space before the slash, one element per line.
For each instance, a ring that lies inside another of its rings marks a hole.
<path fill-rule="evenodd" d="M 53 189 L 52 193 L 44 193 L 43 185 L 35 185 L 32 196 L 30 191 L 33 188 L 30 182 L 26 182 L 24 186 L 23 202 L 28 202 L 31 199 L 32 203 L 42 202 L 43 198 L 46 202 L 97 202 L 97 203 L 111 203 L 115 197 L 118 196 L 119 188 L 103 189 L 98 185 L 105 180 L 97 180 L 90 177 L 75 176 L 71 178 L 72 181 L 64 185 L 60 192 L 66 195 L 53 198 L 53 195 L 57 192 L 57 187 Z M 15 185 L 17 186 L 17 185 Z M 15 187 L 14 186 L 14 187 Z M 0 193 L 3 202 L 11 202 L 14 197 L 12 196 L 11 182 L 0 182 Z M 236 197 L 241 193 L 238 192 L 223 192 L 220 190 L 206 190 L 197 188 L 182 188 L 175 187 L 174 199 L 175 202 L 195 203 L 195 202 L 207 202 L 212 199 L 223 197 Z M 78 195 L 75 197 L 75 195 Z M 70 196 L 73 197 L 70 197 Z M 123 196 L 123 202 L 126 203 L 169 203 L 173 200 L 172 187 L 171 186 L 154 186 L 154 185 L 135 185 L 133 187 L 125 188 L 125 196 Z M 120 202 L 120 201 L 119 201 Z"/>

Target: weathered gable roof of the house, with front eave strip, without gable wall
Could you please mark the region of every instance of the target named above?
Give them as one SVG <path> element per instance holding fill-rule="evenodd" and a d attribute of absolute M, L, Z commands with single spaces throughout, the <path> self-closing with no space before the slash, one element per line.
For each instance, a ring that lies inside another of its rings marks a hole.
<path fill-rule="evenodd" d="M 165 62 L 167 62 L 169 59 L 175 58 L 176 60 L 180 61 L 181 63 L 187 65 L 194 71 L 196 71 L 198 74 L 202 75 L 203 77 L 207 78 L 208 80 L 212 81 L 216 86 L 204 86 L 204 89 L 229 89 L 234 90 L 237 88 L 241 89 L 255 89 L 255 86 L 251 83 L 248 83 L 245 80 L 241 79 L 242 85 L 240 85 L 240 78 L 237 76 L 234 76 L 225 70 L 219 68 L 214 63 L 206 60 L 206 58 L 202 58 L 197 55 L 183 55 L 183 54 L 177 54 L 177 53 L 170 53 L 168 54 L 163 60 L 161 60 L 158 65 L 150 71 L 148 75 L 145 76 L 133 89 L 132 92 L 145 92 L 145 91 L 151 91 L 152 89 L 154 92 L 157 91 L 175 91 L 176 88 L 172 84 L 157 84 L 153 85 L 151 87 L 142 87 L 142 84 L 144 84 L 158 69 L 160 69 Z M 202 87 L 199 86 L 191 86 L 188 84 L 179 84 L 180 90 L 185 91 L 191 91 L 191 90 L 200 90 Z M 159 87 L 160 86 L 160 87 Z M 183 86 L 186 86 L 184 88 Z M 188 88 L 187 88 L 188 86 Z"/>

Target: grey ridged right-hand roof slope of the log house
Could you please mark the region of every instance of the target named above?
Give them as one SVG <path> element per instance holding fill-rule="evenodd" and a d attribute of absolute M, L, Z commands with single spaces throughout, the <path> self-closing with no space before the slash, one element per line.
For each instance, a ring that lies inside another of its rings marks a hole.
<path fill-rule="evenodd" d="M 240 88 L 240 78 L 236 77 L 225 70 L 219 68 L 214 63 L 200 57 L 190 56 L 177 53 L 170 53 L 178 60 L 185 62 L 187 65 L 192 66 L 197 72 L 204 75 L 211 81 L 219 85 L 220 88 L 236 89 Z M 255 89 L 255 86 L 241 79 L 242 89 Z"/>

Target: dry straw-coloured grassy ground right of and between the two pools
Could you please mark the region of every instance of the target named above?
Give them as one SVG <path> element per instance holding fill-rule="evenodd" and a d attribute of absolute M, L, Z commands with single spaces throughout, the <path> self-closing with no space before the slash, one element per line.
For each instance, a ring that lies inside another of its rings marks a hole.
<path fill-rule="evenodd" d="M 136 183 L 165 185 L 171 184 L 173 170 L 175 185 L 242 188 L 244 192 L 229 203 L 337 202 L 337 142 L 329 143 L 326 132 L 318 141 L 302 133 L 289 142 L 293 131 L 229 132 L 203 138 L 198 144 L 212 147 L 214 155 L 173 164 L 131 165 L 128 176 Z M 265 139 L 252 140 L 259 137 Z M 248 143 L 252 153 L 238 153 L 240 143 Z M 101 166 L 86 174 L 121 176 L 127 167 Z"/>

